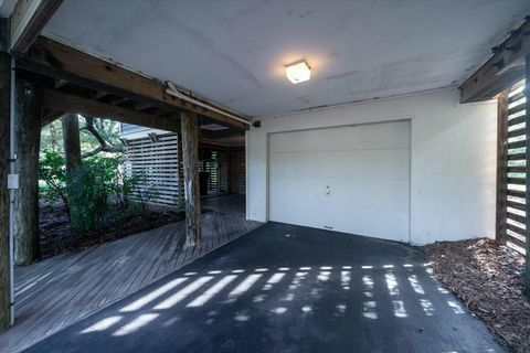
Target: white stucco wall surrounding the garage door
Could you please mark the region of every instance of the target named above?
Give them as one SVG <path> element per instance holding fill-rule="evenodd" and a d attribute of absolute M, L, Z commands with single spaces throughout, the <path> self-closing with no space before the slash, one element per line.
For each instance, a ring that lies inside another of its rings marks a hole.
<path fill-rule="evenodd" d="M 267 133 L 410 119 L 412 243 L 494 237 L 497 104 L 458 98 L 445 88 L 262 119 L 247 132 L 247 218 L 267 221 Z"/>

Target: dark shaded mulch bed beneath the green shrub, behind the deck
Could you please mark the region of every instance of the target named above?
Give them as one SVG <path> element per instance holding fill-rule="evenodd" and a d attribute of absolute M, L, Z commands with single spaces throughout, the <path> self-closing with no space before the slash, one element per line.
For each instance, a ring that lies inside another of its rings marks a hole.
<path fill-rule="evenodd" d="M 167 210 L 149 210 L 126 218 L 119 216 L 120 213 L 119 208 L 113 208 L 107 212 L 104 226 L 91 232 L 77 232 L 70 228 L 64 206 L 41 202 L 39 228 L 42 259 L 184 220 L 183 212 Z"/>

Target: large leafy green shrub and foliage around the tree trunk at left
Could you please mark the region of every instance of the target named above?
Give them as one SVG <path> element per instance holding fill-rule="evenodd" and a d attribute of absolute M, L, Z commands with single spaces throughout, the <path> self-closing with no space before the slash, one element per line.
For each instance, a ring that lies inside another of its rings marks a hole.
<path fill-rule="evenodd" d="M 85 119 L 78 116 L 82 152 L 89 152 L 100 146 L 95 135 L 88 131 Z M 98 136 L 108 145 L 119 145 L 119 122 L 94 119 Z M 112 157 L 108 157 L 112 156 Z M 61 120 L 47 125 L 41 135 L 40 179 L 45 185 L 40 193 L 51 203 L 62 201 L 68 210 L 71 226 L 78 231 L 97 228 L 108 220 L 106 212 L 118 206 L 118 218 L 125 220 L 145 212 L 157 192 L 152 188 L 140 188 L 147 181 L 145 173 L 126 173 L 123 153 L 98 153 L 83 160 L 83 167 L 66 173 L 63 130 Z M 135 202 L 131 202 L 134 195 Z M 117 220 L 119 221 L 119 220 Z"/>

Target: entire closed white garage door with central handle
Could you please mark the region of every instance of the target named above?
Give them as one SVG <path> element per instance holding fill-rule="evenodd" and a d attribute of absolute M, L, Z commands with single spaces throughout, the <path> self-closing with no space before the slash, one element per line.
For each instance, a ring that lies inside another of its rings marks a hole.
<path fill-rule="evenodd" d="M 410 122 L 269 135 L 269 220 L 409 242 Z"/>

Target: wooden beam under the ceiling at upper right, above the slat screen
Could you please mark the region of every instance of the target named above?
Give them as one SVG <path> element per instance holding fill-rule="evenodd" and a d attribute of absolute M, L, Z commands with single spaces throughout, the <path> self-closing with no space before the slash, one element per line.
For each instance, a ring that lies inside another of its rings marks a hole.
<path fill-rule="evenodd" d="M 524 78 L 524 57 L 530 54 L 530 21 L 526 21 L 494 55 L 459 87 L 460 103 L 494 98 Z"/>

